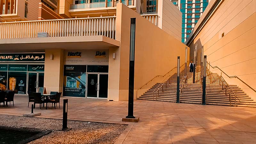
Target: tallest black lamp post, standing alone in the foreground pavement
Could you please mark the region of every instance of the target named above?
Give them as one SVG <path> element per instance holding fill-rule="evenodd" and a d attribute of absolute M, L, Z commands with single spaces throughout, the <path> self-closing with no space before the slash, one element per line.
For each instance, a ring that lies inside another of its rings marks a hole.
<path fill-rule="evenodd" d="M 133 116 L 135 24 L 136 24 L 136 18 L 131 18 L 130 64 L 129 64 L 129 99 L 128 99 L 128 116 L 126 116 L 126 118 L 135 118 Z"/>

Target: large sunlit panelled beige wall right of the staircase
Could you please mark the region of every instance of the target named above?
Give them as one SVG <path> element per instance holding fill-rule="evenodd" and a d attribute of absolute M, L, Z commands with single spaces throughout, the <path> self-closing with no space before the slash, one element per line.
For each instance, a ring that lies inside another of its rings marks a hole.
<path fill-rule="evenodd" d="M 236 0 L 234 3 L 225 0 L 189 47 L 193 50 L 195 44 L 199 48 L 203 45 L 204 55 L 212 66 L 218 66 L 229 76 L 238 76 L 256 90 L 255 6 L 255 0 Z M 190 59 L 193 59 L 193 52 L 190 53 Z M 211 71 L 220 74 L 219 70 Z M 240 86 L 256 99 L 256 93 L 238 79 L 223 77 L 229 84 Z"/>

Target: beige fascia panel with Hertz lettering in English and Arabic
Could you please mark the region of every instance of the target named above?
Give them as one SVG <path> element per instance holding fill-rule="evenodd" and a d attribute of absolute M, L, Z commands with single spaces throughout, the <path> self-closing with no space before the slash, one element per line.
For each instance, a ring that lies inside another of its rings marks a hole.
<path fill-rule="evenodd" d="M 64 51 L 64 64 L 108 65 L 108 50 Z"/>

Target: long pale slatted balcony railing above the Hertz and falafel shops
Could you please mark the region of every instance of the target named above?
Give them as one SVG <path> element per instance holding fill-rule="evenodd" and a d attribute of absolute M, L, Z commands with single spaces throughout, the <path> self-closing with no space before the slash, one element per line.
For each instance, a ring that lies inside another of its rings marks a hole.
<path fill-rule="evenodd" d="M 41 32 L 47 32 L 50 37 L 107 36 L 116 39 L 116 16 L 0 23 L 0 39 L 36 38 Z"/>

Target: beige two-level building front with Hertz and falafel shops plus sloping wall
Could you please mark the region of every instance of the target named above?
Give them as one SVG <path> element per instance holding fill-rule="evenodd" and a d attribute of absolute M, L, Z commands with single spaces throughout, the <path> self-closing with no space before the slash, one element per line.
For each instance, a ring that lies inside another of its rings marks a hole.
<path fill-rule="evenodd" d="M 179 13 L 173 15 L 169 20 L 178 25 Z M 170 35 L 124 4 L 116 4 L 116 14 L 108 17 L 1 23 L 2 89 L 27 94 L 45 87 L 63 96 L 128 100 L 131 18 L 136 18 L 136 99 L 148 90 L 145 84 L 177 66 L 177 56 L 185 62 L 186 45 L 178 30 Z"/>

